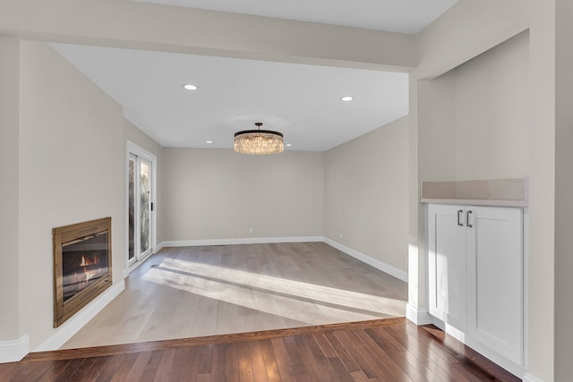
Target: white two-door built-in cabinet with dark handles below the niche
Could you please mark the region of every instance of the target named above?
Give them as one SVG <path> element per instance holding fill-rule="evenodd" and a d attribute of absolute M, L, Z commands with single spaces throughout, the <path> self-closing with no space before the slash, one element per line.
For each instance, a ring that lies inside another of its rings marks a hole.
<path fill-rule="evenodd" d="M 523 365 L 522 210 L 431 204 L 428 212 L 430 314 L 476 350 Z"/>

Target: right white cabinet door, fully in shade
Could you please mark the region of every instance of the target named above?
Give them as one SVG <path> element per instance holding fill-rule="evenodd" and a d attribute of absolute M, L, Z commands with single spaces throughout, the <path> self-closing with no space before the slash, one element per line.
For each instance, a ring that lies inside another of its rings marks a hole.
<path fill-rule="evenodd" d="M 468 207 L 467 334 L 523 364 L 523 223 L 519 208 Z"/>

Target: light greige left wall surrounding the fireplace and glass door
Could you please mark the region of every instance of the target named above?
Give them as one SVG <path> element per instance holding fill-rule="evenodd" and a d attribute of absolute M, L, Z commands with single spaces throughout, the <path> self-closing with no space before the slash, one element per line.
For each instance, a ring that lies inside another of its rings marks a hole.
<path fill-rule="evenodd" d="M 52 228 L 111 216 L 113 280 L 122 280 L 125 140 L 158 157 L 161 148 L 46 43 L 0 38 L 0 49 L 0 190 L 7 203 L 0 220 L 6 249 L 0 271 L 6 293 L 0 292 L 0 301 L 12 307 L 11 314 L 1 315 L 0 338 L 28 334 L 34 349 L 57 330 Z"/>

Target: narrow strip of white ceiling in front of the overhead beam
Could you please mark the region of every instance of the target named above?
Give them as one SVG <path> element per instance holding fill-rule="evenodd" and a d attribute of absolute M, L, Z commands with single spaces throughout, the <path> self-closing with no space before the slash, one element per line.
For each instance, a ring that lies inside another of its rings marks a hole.
<path fill-rule="evenodd" d="M 416 34 L 458 0 L 133 0 Z"/>

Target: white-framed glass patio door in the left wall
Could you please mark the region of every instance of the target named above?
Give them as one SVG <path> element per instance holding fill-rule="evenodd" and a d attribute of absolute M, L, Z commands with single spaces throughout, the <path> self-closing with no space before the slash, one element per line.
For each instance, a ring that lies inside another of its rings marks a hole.
<path fill-rule="evenodd" d="M 127 263 L 135 267 L 156 251 L 157 157 L 127 141 Z"/>

